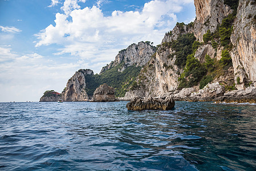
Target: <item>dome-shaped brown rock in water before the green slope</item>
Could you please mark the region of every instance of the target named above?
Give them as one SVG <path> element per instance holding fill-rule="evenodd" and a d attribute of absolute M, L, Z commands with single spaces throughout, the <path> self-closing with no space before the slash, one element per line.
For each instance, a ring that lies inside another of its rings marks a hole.
<path fill-rule="evenodd" d="M 115 89 L 107 84 L 102 84 L 94 91 L 92 102 L 117 101 L 115 97 Z"/>

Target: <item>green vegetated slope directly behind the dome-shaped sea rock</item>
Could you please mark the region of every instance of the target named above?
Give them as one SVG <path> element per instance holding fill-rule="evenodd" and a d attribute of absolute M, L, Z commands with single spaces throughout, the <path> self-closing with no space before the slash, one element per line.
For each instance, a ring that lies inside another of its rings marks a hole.
<path fill-rule="evenodd" d="M 101 75 L 87 75 L 86 92 L 88 96 L 94 95 L 95 89 L 104 83 L 115 88 L 116 96 L 124 96 L 129 90 L 128 87 L 132 85 L 136 79 L 136 76 L 139 75 L 141 67 L 129 66 L 123 72 L 119 72 L 119 69 L 122 66 L 123 63 L 120 63 L 116 67 L 104 71 Z"/>

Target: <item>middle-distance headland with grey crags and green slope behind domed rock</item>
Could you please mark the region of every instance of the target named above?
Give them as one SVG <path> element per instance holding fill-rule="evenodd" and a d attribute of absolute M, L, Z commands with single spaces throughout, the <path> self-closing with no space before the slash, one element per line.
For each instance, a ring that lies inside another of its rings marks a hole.
<path fill-rule="evenodd" d="M 87 101 L 101 84 L 115 88 L 115 95 L 124 96 L 133 84 L 141 67 L 144 66 L 156 52 L 151 42 L 131 44 L 125 50 L 119 51 L 114 61 L 103 67 L 100 74 L 92 70 L 79 70 L 62 92 L 64 101 Z"/>

